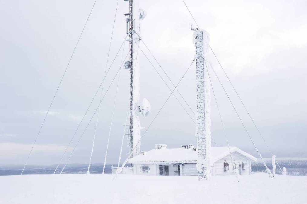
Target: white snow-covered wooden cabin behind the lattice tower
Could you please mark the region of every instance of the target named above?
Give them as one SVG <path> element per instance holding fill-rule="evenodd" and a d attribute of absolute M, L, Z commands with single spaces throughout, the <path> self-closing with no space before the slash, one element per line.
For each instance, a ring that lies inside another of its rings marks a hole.
<path fill-rule="evenodd" d="M 231 156 L 235 164 L 231 162 Z M 233 174 L 234 167 L 239 174 L 251 174 L 251 161 L 256 158 L 237 147 L 212 147 L 212 175 Z M 166 144 L 156 144 L 155 149 L 128 160 L 133 164 L 134 174 L 191 176 L 198 175 L 196 168 L 197 152 L 194 145 L 182 145 L 182 148 L 167 148 Z"/>

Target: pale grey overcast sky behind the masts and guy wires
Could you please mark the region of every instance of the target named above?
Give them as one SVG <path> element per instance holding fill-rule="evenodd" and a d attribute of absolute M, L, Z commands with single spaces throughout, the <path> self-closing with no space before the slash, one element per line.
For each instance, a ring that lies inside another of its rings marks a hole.
<path fill-rule="evenodd" d="M 25 163 L 93 3 L 94 0 L 0 0 L 0 164 Z M 210 33 L 212 49 L 272 152 L 277 157 L 307 157 L 306 2 L 186 0 L 186 3 L 198 25 Z M 147 12 L 141 25 L 142 40 L 176 84 L 194 58 L 190 30 L 190 24 L 194 22 L 182 1 L 141 1 L 140 4 Z M 101 83 L 115 8 L 115 0 L 97 0 L 29 164 L 59 162 Z M 120 0 L 109 65 L 126 35 L 123 14 L 128 11 L 128 2 Z M 141 44 L 140 48 L 172 87 L 145 46 Z M 126 44 L 124 53 L 127 52 Z M 104 90 L 119 68 L 120 57 L 121 54 L 107 75 Z M 258 149 L 264 157 L 270 157 L 218 63 L 212 54 L 209 57 Z M 147 128 L 170 91 L 142 53 L 138 59 L 141 99 L 147 98 L 151 104 L 150 115 L 141 117 L 141 126 Z M 230 145 L 258 157 L 220 84 L 213 73 L 211 76 Z M 195 78 L 194 64 L 178 86 L 193 109 Z M 116 83 L 117 79 L 102 103 L 93 163 L 103 163 Z M 99 97 L 69 151 L 94 113 L 98 100 Z M 182 99 L 181 102 L 184 104 Z M 107 163 L 118 160 L 128 105 L 129 71 L 122 68 Z M 225 146 L 213 100 L 211 106 L 212 137 L 218 146 Z M 88 163 L 96 118 L 94 116 L 70 163 Z M 141 149 L 148 151 L 159 143 L 167 144 L 169 148 L 196 144 L 194 135 L 194 123 L 172 96 L 143 137 Z M 123 159 L 128 152 L 126 141 Z M 64 161 L 67 158 L 68 155 Z"/>

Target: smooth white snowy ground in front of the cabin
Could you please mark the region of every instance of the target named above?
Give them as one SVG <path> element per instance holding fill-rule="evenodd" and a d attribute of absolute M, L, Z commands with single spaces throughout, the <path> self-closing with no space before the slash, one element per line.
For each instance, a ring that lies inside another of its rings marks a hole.
<path fill-rule="evenodd" d="M 0 176 L 0 203 L 205 203 L 306 204 L 307 176 L 266 173 L 240 177 L 119 175 Z"/>

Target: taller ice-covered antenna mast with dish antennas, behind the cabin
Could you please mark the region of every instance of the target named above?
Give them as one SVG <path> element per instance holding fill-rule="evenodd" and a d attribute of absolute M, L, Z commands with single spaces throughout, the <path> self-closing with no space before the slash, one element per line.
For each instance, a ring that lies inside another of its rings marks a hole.
<path fill-rule="evenodd" d="M 145 12 L 139 9 L 139 0 L 125 0 L 129 1 L 129 13 L 124 14 L 127 16 L 127 34 L 129 34 L 129 60 L 125 62 L 125 68 L 130 70 L 130 126 L 129 126 L 129 146 L 131 157 L 140 154 L 141 147 L 141 124 L 139 113 L 144 113 L 144 99 L 143 106 L 140 106 L 140 65 L 138 63 L 138 49 L 140 37 L 140 20 L 145 17 Z M 129 28 L 129 30 L 128 30 Z M 147 102 L 147 100 L 146 100 Z M 145 104 L 146 104 L 145 102 Z M 150 105 L 147 102 L 147 107 Z M 142 110 L 141 110 L 142 109 Z M 149 111 L 146 112 L 146 115 Z M 144 115 L 145 116 L 145 115 Z"/>

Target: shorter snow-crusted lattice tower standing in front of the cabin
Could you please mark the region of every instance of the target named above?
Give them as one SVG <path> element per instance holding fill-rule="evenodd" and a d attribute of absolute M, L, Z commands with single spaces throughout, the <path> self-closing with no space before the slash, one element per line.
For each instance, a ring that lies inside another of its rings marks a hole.
<path fill-rule="evenodd" d="M 210 86 L 207 70 L 209 33 L 193 29 L 196 48 L 196 137 L 198 180 L 211 177 Z"/>

